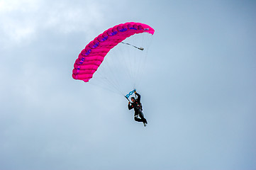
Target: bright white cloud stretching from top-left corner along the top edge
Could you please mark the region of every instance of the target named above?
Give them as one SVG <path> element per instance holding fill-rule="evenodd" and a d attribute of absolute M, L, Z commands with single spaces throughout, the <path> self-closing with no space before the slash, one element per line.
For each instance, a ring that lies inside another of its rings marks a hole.
<path fill-rule="evenodd" d="M 0 43 L 30 42 L 42 30 L 90 33 L 89 26 L 97 27 L 104 21 L 102 9 L 99 2 L 89 1 L 82 5 L 68 1 L 0 1 L 0 31 L 4 33 Z"/>

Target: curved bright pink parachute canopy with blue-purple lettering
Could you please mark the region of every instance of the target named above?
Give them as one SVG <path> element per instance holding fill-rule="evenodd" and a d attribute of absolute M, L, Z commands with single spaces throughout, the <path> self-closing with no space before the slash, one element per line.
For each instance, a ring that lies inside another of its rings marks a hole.
<path fill-rule="evenodd" d="M 72 77 L 88 82 L 103 62 L 106 54 L 118 43 L 138 33 L 154 34 L 155 30 L 144 23 L 122 23 L 105 30 L 82 50 L 74 63 Z"/>

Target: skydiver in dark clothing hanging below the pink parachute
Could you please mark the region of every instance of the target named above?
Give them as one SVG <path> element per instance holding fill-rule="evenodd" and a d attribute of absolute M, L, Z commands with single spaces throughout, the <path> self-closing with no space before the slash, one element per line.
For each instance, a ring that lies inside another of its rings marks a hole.
<path fill-rule="evenodd" d="M 140 94 L 138 94 L 136 91 L 134 93 L 138 98 L 137 99 L 135 99 L 134 97 L 130 98 L 133 103 L 130 103 L 129 101 L 128 109 L 129 110 L 134 109 L 134 120 L 137 122 L 143 122 L 144 126 L 146 126 L 148 122 L 143 115 L 143 107 L 140 103 Z"/>

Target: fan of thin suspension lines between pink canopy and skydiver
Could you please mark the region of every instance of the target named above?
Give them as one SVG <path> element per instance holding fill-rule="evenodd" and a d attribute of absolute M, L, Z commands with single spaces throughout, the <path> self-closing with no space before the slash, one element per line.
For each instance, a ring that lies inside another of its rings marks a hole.
<path fill-rule="evenodd" d="M 146 35 L 148 33 L 133 35 L 111 49 L 94 73 L 91 83 L 125 97 L 128 90 L 138 89 L 148 53 L 149 36 Z M 129 101 L 129 98 L 126 99 Z"/>

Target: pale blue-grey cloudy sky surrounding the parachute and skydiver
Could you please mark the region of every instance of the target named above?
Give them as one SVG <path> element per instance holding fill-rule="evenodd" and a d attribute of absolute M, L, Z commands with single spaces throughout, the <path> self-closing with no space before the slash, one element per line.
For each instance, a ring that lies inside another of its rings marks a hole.
<path fill-rule="evenodd" d="M 255 1 L 0 1 L 0 169 L 256 169 Z M 155 29 L 142 95 L 72 79 L 118 23 Z"/>

